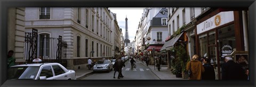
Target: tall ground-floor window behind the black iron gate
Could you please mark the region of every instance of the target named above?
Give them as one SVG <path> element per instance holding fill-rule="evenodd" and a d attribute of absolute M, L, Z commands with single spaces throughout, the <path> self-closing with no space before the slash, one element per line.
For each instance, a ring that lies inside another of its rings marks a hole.
<path fill-rule="evenodd" d="M 50 55 L 50 35 L 47 34 L 47 33 L 43 33 L 43 34 L 40 34 L 39 36 L 39 40 L 40 40 L 40 43 L 39 43 L 39 56 L 42 56 L 43 58 L 44 57 L 49 57 Z"/>

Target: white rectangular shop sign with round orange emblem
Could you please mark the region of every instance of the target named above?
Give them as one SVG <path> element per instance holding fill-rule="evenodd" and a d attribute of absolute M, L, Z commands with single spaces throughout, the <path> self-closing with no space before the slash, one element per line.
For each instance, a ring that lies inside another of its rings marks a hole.
<path fill-rule="evenodd" d="M 216 27 L 219 27 L 223 24 L 226 24 L 232 21 L 234 21 L 233 11 L 220 12 L 219 14 L 212 16 L 212 18 L 196 25 L 197 34 L 214 29 Z"/>

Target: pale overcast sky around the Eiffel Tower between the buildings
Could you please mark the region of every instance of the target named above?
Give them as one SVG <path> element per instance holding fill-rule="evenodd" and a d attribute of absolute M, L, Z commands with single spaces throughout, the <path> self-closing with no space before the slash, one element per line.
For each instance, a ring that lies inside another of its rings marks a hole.
<path fill-rule="evenodd" d="M 128 34 L 132 42 L 135 38 L 137 27 L 145 7 L 109 7 L 108 9 L 116 13 L 116 19 L 120 28 L 122 28 L 123 36 L 125 38 L 125 18 L 127 15 Z"/>

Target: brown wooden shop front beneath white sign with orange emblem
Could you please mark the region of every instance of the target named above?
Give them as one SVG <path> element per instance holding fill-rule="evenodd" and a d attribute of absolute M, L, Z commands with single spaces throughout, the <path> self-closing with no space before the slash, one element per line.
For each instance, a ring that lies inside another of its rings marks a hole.
<path fill-rule="evenodd" d="M 240 22 L 239 22 L 240 21 Z M 215 78 L 221 80 L 224 56 L 244 50 L 243 28 L 238 11 L 219 12 L 196 23 L 196 53 L 210 58 Z"/>

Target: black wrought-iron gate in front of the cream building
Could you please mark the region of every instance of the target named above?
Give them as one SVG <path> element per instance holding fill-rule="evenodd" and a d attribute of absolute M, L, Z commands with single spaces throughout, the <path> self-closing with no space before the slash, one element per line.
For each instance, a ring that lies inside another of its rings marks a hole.
<path fill-rule="evenodd" d="M 36 29 L 32 32 L 25 32 L 26 63 L 32 63 L 33 59 L 41 57 L 44 63 L 60 63 L 66 66 L 66 59 L 61 59 L 62 47 L 67 47 L 66 42 L 62 41 L 62 36 L 59 38 L 42 36 L 37 34 Z"/>

